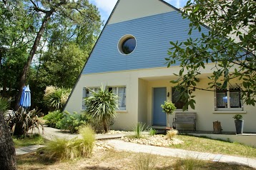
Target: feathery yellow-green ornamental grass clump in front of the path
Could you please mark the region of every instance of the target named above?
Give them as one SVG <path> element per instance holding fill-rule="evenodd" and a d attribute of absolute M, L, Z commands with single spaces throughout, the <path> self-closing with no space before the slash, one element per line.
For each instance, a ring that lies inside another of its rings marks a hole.
<path fill-rule="evenodd" d="M 87 157 L 92 154 L 95 134 L 92 128 L 84 126 L 79 129 L 82 139 L 54 139 L 46 144 L 46 147 L 39 150 L 48 159 L 70 160 L 80 157 Z"/>

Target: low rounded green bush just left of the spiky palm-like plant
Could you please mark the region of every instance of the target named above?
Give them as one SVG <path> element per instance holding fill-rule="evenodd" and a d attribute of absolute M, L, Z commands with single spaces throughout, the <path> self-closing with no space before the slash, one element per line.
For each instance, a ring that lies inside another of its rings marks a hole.
<path fill-rule="evenodd" d="M 88 118 L 84 114 L 77 114 L 77 112 L 70 114 L 68 111 L 64 111 L 63 118 L 56 123 L 56 128 L 76 133 L 80 126 L 87 124 L 87 121 Z"/>

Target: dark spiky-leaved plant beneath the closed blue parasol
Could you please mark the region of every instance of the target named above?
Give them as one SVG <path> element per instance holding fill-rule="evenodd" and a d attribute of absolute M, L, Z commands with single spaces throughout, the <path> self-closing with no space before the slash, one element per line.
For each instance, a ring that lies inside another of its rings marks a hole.
<path fill-rule="evenodd" d="M 14 136 L 26 136 L 26 134 L 31 130 L 33 133 L 35 128 L 40 131 L 44 131 L 44 126 L 39 121 L 39 116 L 41 112 L 38 109 L 33 109 L 31 111 L 26 111 L 22 107 L 19 107 L 17 111 L 12 111 L 12 114 L 6 119 L 7 125 Z"/>

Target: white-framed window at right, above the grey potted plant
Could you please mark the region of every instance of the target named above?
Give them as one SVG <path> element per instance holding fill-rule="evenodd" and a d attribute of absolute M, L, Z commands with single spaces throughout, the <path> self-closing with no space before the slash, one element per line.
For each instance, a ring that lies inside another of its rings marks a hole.
<path fill-rule="evenodd" d="M 242 110 L 240 87 L 227 86 L 227 89 L 216 89 L 215 110 Z"/>

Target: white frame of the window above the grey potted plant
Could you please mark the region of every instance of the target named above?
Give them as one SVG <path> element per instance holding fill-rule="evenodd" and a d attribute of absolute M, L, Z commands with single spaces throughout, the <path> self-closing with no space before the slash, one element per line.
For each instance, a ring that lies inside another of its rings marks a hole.
<path fill-rule="evenodd" d="M 225 93 L 227 93 L 227 105 L 226 105 L 225 108 L 218 108 L 217 107 L 217 89 L 215 89 L 215 111 L 243 111 L 244 110 L 241 92 L 240 92 L 240 105 L 241 105 L 241 107 L 232 108 L 230 106 L 230 89 L 235 89 L 235 88 L 240 88 L 240 86 L 227 86 L 227 91 L 225 92 Z M 226 89 L 224 89 L 224 91 L 225 90 Z"/>

